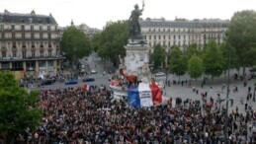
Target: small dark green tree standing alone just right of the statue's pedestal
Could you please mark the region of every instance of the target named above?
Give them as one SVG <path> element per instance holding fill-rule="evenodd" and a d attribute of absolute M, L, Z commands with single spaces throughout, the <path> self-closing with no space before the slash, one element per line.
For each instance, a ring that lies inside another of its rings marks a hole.
<path fill-rule="evenodd" d="M 153 53 L 150 55 L 150 62 L 153 62 L 154 69 L 158 69 L 159 66 L 164 62 L 166 56 L 166 51 L 164 48 L 158 43 L 154 47 Z"/>

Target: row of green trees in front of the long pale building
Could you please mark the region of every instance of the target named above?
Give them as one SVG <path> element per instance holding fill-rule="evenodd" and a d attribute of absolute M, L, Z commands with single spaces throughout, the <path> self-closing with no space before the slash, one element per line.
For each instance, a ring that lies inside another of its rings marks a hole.
<path fill-rule="evenodd" d="M 164 62 L 166 52 L 160 44 L 157 44 L 154 49 L 155 51 L 150 58 L 156 67 Z M 234 52 L 235 49 L 227 43 L 217 45 L 213 39 L 209 41 L 206 49 L 198 47 L 197 44 L 191 44 L 185 52 L 177 45 L 174 45 L 171 49 L 167 70 L 177 76 L 188 73 L 194 79 L 201 77 L 203 74 L 218 77 L 228 69 L 229 61 L 230 68 L 239 67 Z"/>

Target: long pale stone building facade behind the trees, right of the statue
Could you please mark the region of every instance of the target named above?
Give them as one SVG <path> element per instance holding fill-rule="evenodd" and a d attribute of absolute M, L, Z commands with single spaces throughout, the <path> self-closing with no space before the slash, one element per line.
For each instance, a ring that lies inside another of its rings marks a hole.
<path fill-rule="evenodd" d="M 166 21 L 163 18 L 147 18 L 140 21 L 140 26 L 142 35 L 149 46 L 149 53 L 158 43 L 166 48 L 167 53 L 170 53 L 173 45 L 186 51 L 192 43 L 205 48 L 209 39 L 215 39 L 217 43 L 223 42 L 228 22 L 219 19 Z"/>

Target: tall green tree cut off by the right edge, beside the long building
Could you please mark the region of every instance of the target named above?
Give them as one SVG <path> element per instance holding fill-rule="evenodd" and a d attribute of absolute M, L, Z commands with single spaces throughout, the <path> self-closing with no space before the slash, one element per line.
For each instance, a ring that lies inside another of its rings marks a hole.
<path fill-rule="evenodd" d="M 256 55 L 256 12 L 245 10 L 234 13 L 226 31 L 227 42 L 234 47 L 239 65 L 245 67 L 255 64 Z"/>

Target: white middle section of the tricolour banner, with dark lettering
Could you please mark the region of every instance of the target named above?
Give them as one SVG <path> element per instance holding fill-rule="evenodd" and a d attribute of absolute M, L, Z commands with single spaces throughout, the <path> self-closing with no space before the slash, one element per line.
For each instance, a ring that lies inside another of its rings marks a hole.
<path fill-rule="evenodd" d="M 139 93 L 139 99 L 140 99 L 140 107 L 153 106 L 152 92 L 148 84 L 139 83 L 138 93 Z"/>

